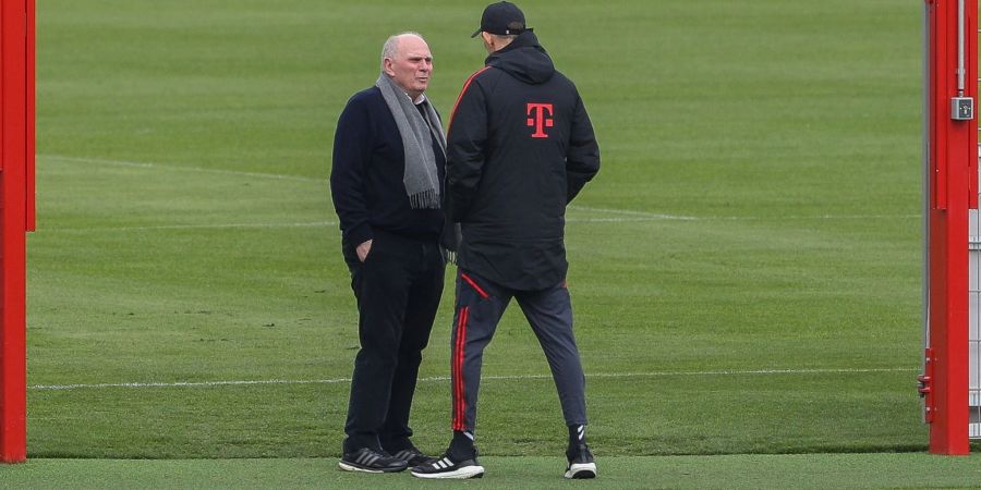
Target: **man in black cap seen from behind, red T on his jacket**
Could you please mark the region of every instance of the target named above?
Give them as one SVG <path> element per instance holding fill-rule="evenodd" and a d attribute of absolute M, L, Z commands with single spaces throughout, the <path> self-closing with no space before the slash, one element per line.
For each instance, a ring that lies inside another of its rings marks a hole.
<path fill-rule="evenodd" d="M 488 5 L 489 56 L 463 85 L 447 137 L 448 219 L 460 223 L 451 339 L 453 439 L 421 478 L 484 474 L 474 448 L 484 347 L 511 298 L 542 345 L 569 430 L 566 478 L 593 478 L 585 378 L 566 289 L 565 210 L 600 170 L 600 148 L 576 86 L 557 72 L 517 5 Z"/>

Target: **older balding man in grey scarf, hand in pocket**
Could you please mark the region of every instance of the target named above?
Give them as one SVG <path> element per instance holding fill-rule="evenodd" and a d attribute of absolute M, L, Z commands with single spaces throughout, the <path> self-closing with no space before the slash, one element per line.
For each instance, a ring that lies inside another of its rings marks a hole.
<path fill-rule="evenodd" d="M 355 94 L 337 123 L 330 192 L 358 303 L 343 457 L 349 471 L 423 464 L 409 412 L 422 350 L 443 294 L 446 137 L 425 90 L 433 56 L 416 33 L 391 36 L 375 86 Z"/>

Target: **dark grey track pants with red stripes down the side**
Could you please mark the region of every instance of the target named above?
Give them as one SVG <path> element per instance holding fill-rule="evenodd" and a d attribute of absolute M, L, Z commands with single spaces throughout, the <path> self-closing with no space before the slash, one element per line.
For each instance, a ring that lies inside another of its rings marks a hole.
<path fill-rule="evenodd" d="M 452 429 L 474 429 L 484 347 L 512 297 L 548 359 L 566 425 L 585 425 L 585 377 L 572 334 L 572 303 L 565 282 L 542 291 L 513 291 L 458 269 L 450 356 Z"/>

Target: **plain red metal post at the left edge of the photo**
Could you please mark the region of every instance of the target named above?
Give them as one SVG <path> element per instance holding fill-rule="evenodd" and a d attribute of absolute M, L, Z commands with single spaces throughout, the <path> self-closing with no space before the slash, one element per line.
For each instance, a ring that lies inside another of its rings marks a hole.
<path fill-rule="evenodd" d="M 33 21 L 33 0 L 0 0 L 0 462 L 3 463 L 27 458 L 26 231 L 33 225 L 33 217 L 28 218 L 33 203 L 28 205 L 28 200 L 34 198 L 33 169 L 28 171 L 34 164 L 34 53 L 29 52 L 34 48 L 34 27 L 28 28 L 27 24 Z"/>

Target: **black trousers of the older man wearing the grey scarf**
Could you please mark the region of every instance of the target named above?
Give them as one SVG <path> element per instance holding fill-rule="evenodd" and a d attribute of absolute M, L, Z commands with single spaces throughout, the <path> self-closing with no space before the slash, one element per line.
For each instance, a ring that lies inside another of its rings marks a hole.
<path fill-rule="evenodd" d="M 364 262 L 344 244 L 358 299 L 361 350 L 354 358 L 344 451 L 405 449 L 409 413 L 446 262 L 436 240 L 377 232 Z"/>

